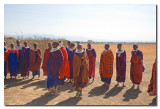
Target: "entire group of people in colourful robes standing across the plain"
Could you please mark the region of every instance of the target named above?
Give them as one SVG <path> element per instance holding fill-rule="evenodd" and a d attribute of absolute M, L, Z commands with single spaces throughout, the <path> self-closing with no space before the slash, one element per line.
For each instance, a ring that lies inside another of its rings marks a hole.
<path fill-rule="evenodd" d="M 5 43 L 4 43 L 5 45 Z M 143 53 L 138 49 L 138 45 L 133 45 L 131 52 L 131 66 L 130 66 L 130 79 L 133 83 L 138 85 L 142 81 L 142 73 L 145 68 L 143 66 Z M 105 44 L 104 51 L 100 56 L 99 74 L 101 81 L 104 85 L 109 86 L 113 75 L 113 52 L 109 44 Z M 33 44 L 33 49 L 28 47 L 27 42 L 24 46 L 17 40 L 16 45 L 10 44 L 10 48 L 4 47 L 4 76 L 7 73 L 10 76 L 17 76 L 21 74 L 22 77 L 29 76 L 29 71 L 35 75 L 40 76 L 41 68 L 41 50 L 37 44 Z M 88 43 L 85 49 L 80 42 L 75 44 L 68 41 L 66 48 L 63 46 L 62 41 L 55 41 L 48 43 L 48 48 L 44 52 L 43 58 L 43 75 L 47 76 L 47 88 L 50 92 L 58 92 L 61 85 L 64 85 L 64 80 L 67 79 L 68 83 L 73 84 L 77 91 L 76 96 L 82 95 L 82 89 L 87 85 L 90 79 L 92 82 L 95 78 L 95 64 L 96 64 L 96 51 L 92 48 L 91 42 Z M 117 44 L 116 51 L 116 81 L 119 86 L 123 82 L 125 87 L 126 79 L 126 51 L 122 48 L 122 44 Z M 148 92 L 151 95 L 156 95 L 156 61 L 152 68 L 152 78 L 148 86 Z"/>

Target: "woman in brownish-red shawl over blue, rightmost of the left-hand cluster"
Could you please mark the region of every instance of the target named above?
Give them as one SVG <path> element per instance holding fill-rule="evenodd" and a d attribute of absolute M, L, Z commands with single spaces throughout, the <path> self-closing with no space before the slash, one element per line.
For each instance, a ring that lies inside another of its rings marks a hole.
<path fill-rule="evenodd" d="M 38 75 L 38 78 L 40 77 L 40 66 L 41 66 L 41 51 L 39 48 L 37 48 L 37 44 L 33 44 L 34 50 L 30 50 L 30 71 L 32 71 L 33 79 L 35 75 Z"/>

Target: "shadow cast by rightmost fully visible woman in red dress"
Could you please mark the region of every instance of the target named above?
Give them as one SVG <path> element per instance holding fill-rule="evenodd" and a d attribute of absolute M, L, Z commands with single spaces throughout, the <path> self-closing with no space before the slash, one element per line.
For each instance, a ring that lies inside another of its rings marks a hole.
<path fill-rule="evenodd" d="M 139 88 L 134 89 L 133 87 L 131 87 L 130 89 L 128 89 L 124 93 L 124 95 L 123 95 L 123 97 L 124 97 L 123 101 L 129 101 L 130 99 L 136 99 L 138 97 L 139 93 L 142 93 Z"/>

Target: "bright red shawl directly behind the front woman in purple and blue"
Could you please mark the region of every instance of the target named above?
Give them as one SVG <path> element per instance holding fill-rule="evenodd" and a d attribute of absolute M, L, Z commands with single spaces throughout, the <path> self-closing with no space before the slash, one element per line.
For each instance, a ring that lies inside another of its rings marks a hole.
<path fill-rule="evenodd" d="M 60 47 L 60 50 L 63 54 L 63 63 L 60 70 L 60 79 L 69 78 L 69 62 L 68 62 L 68 54 L 64 47 Z"/>

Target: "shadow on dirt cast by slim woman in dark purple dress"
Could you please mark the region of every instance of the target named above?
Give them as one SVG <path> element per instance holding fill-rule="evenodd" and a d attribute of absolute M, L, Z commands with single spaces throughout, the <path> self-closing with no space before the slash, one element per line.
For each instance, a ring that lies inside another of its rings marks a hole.
<path fill-rule="evenodd" d="M 104 98 L 109 98 L 111 96 L 116 96 L 118 95 L 118 93 L 120 93 L 122 91 L 123 87 L 117 87 L 117 86 L 114 86 L 111 90 L 109 90 Z"/>

